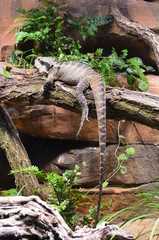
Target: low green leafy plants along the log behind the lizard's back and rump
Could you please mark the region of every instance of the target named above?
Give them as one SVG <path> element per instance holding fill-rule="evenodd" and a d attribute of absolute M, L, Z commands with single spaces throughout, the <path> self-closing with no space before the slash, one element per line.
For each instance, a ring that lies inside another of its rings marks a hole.
<path fill-rule="evenodd" d="M 127 58 L 127 56 L 127 49 L 122 50 L 121 54 L 118 55 L 113 48 L 108 57 L 103 57 L 103 49 L 98 48 L 95 53 L 78 53 L 77 55 L 61 53 L 57 59 L 59 61 L 78 61 L 89 65 L 102 74 L 105 85 L 110 85 L 113 82 L 118 86 L 115 73 L 120 73 L 127 75 L 128 84 L 134 86 L 135 89 L 148 90 L 148 81 L 144 73 L 155 70 L 151 66 L 144 65 L 140 58 Z M 140 79 L 139 84 L 138 79 Z"/>

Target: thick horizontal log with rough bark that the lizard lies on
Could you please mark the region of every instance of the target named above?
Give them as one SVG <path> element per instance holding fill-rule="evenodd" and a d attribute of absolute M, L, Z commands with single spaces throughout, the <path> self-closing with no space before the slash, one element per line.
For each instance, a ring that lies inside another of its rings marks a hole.
<path fill-rule="evenodd" d="M 16 70 L 18 71 L 18 70 Z M 20 80 L 17 80 L 20 76 Z M 56 82 L 48 95 L 38 97 L 44 82 L 38 74 L 11 73 L 11 79 L 0 77 L 0 102 L 6 106 L 56 105 L 74 112 L 81 112 L 76 99 L 75 87 Z M 91 90 L 86 93 L 89 116 L 96 117 Z M 107 87 L 107 119 L 127 119 L 159 129 L 159 96 L 148 92 L 137 92 L 124 88 Z"/>

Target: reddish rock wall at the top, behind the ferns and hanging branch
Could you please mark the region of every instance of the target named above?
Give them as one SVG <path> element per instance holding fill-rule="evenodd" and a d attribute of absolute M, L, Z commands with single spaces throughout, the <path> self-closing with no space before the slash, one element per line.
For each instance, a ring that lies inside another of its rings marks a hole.
<path fill-rule="evenodd" d="M 59 4 L 66 4 L 61 14 L 72 15 L 79 19 L 82 13 L 87 16 L 105 16 L 110 13 L 112 0 L 82 0 L 80 5 L 76 0 L 60 0 Z M 125 16 L 132 21 L 139 22 L 144 26 L 156 29 L 159 25 L 159 5 L 157 2 L 147 2 L 143 0 L 119 0 L 120 10 Z M 19 17 L 16 8 L 30 9 L 38 6 L 38 0 L 1 0 L 0 1 L 0 59 L 5 60 L 14 46 L 14 34 L 8 35 L 10 30 L 15 26 L 14 19 Z M 144 15 L 143 15 L 144 9 Z M 76 33 L 70 28 L 70 35 L 76 36 Z M 90 44 L 91 42 L 91 44 Z M 106 53 L 111 48 L 116 47 L 118 50 L 128 48 L 131 55 L 143 57 L 146 61 L 154 63 L 154 56 L 150 49 L 140 40 L 132 37 L 125 37 L 125 34 L 116 26 L 109 24 L 102 28 L 94 39 L 88 39 L 83 43 L 84 50 L 93 51 L 98 47 L 103 47 Z"/>

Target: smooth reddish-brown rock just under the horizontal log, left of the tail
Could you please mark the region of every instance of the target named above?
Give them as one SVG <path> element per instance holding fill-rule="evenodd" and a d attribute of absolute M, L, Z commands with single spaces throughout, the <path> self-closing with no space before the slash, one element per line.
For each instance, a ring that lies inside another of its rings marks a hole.
<path fill-rule="evenodd" d="M 9 108 L 13 122 L 21 133 L 54 139 L 76 139 L 81 115 L 56 106 Z M 98 141 L 96 119 L 86 121 L 80 140 Z"/>

